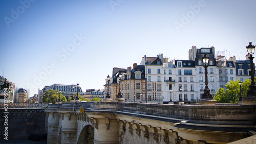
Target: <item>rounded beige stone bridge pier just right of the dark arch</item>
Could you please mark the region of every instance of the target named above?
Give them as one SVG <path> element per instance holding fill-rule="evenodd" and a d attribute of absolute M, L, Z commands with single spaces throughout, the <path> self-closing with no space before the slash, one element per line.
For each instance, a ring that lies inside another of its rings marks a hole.
<path fill-rule="evenodd" d="M 98 118 L 98 129 L 94 130 L 94 143 L 119 143 L 119 122 L 116 118 Z"/>

